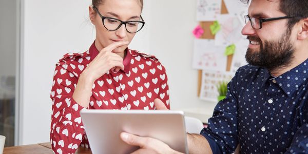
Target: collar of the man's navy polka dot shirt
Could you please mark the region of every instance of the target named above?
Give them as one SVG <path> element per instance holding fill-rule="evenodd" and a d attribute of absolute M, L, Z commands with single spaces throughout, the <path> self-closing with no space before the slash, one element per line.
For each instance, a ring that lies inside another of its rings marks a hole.
<path fill-rule="evenodd" d="M 308 76 L 307 65 L 308 59 L 290 71 L 274 78 L 288 97 L 298 90 L 302 83 L 306 81 Z"/>

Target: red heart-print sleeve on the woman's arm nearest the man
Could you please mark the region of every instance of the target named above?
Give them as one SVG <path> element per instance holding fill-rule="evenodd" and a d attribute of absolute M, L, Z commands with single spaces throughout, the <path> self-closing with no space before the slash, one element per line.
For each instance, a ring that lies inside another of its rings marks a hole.
<path fill-rule="evenodd" d="M 160 74 L 159 74 L 159 78 L 161 79 L 161 83 L 160 83 L 160 90 L 159 90 L 159 93 L 158 93 L 158 96 L 159 96 L 159 99 L 161 99 L 166 107 L 168 109 L 170 109 L 170 100 L 169 100 L 169 86 L 168 86 L 168 77 L 167 77 L 167 74 L 166 74 L 166 69 L 165 67 L 160 63 L 158 62 L 159 65 L 157 66 L 157 68 L 160 71 Z"/>

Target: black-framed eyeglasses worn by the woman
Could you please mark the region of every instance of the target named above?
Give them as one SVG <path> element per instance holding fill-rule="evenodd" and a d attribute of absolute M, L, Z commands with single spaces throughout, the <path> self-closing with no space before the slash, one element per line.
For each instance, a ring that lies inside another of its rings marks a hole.
<path fill-rule="evenodd" d="M 98 14 L 101 16 L 104 27 L 109 31 L 118 30 L 124 24 L 127 32 L 137 33 L 138 31 L 142 29 L 142 27 L 145 24 L 141 15 L 140 15 L 140 18 L 142 21 L 123 22 L 121 20 L 118 20 L 117 18 L 103 16 L 95 6 L 93 6 L 93 9 L 97 11 Z"/>

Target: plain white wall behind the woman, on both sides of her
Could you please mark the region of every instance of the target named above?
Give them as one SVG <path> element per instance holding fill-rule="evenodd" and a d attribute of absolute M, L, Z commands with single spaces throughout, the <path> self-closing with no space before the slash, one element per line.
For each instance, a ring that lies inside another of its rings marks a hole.
<path fill-rule="evenodd" d="M 19 144 L 49 142 L 55 63 L 67 52 L 83 52 L 94 40 L 87 0 L 24 0 L 22 27 L 22 110 Z M 145 0 L 145 27 L 131 49 L 151 53 L 166 67 L 172 109 L 207 108 L 197 98 L 197 70 L 191 69 L 195 1 Z"/>

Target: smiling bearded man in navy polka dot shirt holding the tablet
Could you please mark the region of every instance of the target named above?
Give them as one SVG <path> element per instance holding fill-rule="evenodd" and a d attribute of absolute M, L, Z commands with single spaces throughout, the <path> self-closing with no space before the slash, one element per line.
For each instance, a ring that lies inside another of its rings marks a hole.
<path fill-rule="evenodd" d="M 308 153 L 307 17 L 307 0 L 251 1 L 242 29 L 250 65 L 238 69 L 208 128 L 187 134 L 189 153 L 232 153 L 237 145 L 241 153 Z M 121 138 L 140 146 L 136 153 L 178 153 L 156 139 Z"/>

